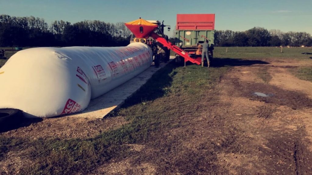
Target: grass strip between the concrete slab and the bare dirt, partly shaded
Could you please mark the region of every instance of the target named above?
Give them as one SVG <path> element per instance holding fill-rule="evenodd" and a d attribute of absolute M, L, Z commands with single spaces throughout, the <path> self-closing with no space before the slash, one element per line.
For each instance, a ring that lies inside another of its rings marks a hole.
<path fill-rule="evenodd" d="M 85 174 L 110 159 L 134 154 L 127 144 L 147 144 L 161 137 L 160 131 L 179 127 L 177 118 L 195 115 L 207 90 L 214 87 L 227 69 L 197 65 L 184 68 L 170 63 L 155 73 L 119 111 L 110 115 L 123 116 L 128 124 L 84 140 L 0 137 L 0 156 L 8 151 L 27 149 L 27 156 L 35 163 L 24 167 L 21 174 Z"/>

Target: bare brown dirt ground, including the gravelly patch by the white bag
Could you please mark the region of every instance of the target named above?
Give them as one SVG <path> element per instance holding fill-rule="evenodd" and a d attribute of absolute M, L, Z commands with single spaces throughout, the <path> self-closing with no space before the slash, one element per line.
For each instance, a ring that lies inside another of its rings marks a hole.
<path fill-rule="evenodd" d="M 153 141 L 129 144 L 132 154 L 90 174 L 312 174 L 312 83 L 289 71 L 312 60 L 262 61 L 269 64 L 233 66 L 207 92 L 196 115 L 180 116 L 172 121 L 180 127 Z M 263 71 L 268 81 L 259 77 Z M 1 135 L 87 138 L 125 123 L 122 117 L 61 117 L 25 121 Z M 23 166 L 18 153 L 8 154 L 0 159 L 0 170 Z"/>

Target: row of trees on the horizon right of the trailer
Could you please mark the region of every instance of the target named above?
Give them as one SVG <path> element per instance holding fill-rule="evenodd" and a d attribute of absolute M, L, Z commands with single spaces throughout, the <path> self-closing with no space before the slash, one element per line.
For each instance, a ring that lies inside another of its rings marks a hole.
<path fill-rule="evenodd" d="M 312 37 L 307 32 L 282 32 L 254 27 L 247 31 L 215 31 L 215 46 L 312 46 Z"/>

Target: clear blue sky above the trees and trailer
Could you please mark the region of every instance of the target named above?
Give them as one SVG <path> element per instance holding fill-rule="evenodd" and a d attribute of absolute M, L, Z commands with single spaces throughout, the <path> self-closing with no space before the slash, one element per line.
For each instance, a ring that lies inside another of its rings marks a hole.
<path fill-rule="evenodd" d="M 0 0 L 0 14 L 35 16 L 48 24 L 83 20 L 129 22 L 164 20 L 173 29 L 176 14 L 215 13 L 216 30 L 246 31 L 254 26 L 312 34 L 312 0 Z M 173 33 L 166 32 L 172 36 Z"/>

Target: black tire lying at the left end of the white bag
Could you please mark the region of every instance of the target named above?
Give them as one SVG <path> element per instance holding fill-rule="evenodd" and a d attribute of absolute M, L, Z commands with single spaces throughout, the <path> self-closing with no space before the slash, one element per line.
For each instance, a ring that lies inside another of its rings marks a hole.
<path fill-rule="evenodd" d="M 22 117 L 22 111 L 18 109 L 0 109 L 0 127 L 9 127 L 18 122 Z"/>

